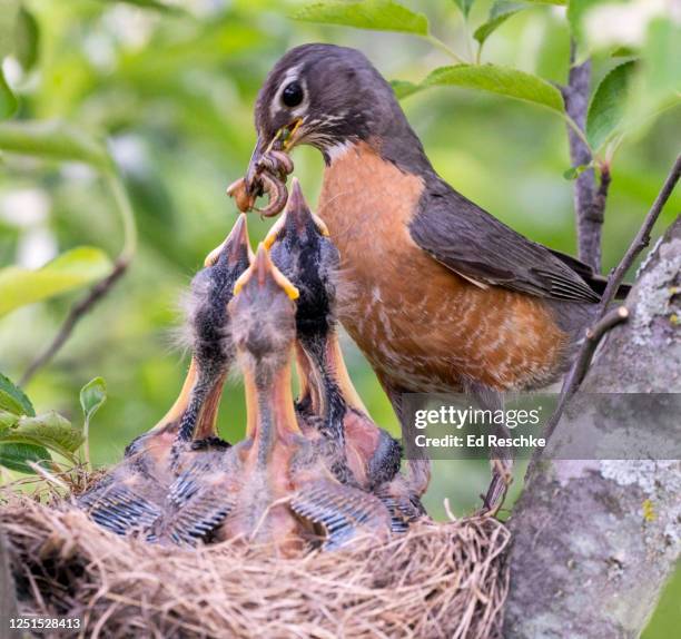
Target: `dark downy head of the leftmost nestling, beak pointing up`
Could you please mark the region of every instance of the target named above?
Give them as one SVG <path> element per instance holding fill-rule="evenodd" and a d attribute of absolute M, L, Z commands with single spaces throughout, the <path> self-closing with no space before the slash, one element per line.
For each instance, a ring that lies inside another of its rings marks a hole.
<path fill-rule="evenodd" d="M 208 255 L 205 268 L 191 281 L 187 324 L 194 356 L 200 363 L 234 355 L 227 304 L 250 259 L 246 215 L 241 214 L 225 242 Z"/>

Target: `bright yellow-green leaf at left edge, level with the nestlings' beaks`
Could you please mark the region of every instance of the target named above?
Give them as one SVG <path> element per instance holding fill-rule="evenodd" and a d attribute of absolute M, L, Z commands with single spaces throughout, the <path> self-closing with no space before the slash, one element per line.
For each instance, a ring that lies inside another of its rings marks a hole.
<path fill-rule="evenodd" d="M 103 278 L 111 260 L 99 248 L 81 246 L 63 253 L 37 271 L 0 269 L 0 317 L 20 306 L 40 302 Z"/>

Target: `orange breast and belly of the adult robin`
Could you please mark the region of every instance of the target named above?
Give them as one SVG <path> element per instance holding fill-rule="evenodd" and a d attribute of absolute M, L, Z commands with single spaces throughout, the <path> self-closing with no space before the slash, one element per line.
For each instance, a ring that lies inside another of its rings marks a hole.
<path fill-rule="evenodd" d="M 342 257 L 339 316 L 383 379 L 413 392 L 547 383 L 566 335 L 536 297 L 482 289 L 424 253 L 407 225 L 421 178 L 367 145 L 327 167 L 318 215 Z M 452 242 L 456 242 L 453 237 Z"/>

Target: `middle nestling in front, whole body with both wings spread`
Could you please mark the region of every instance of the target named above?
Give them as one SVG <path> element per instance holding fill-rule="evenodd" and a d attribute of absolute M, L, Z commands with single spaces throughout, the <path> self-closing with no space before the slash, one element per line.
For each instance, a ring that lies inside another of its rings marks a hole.
<path fill-rule="evenodd" d="M 333 549 L 361 531 L 389 531 L 384 504 L 338 482 L 324 463 L 325 442 L 307 438 L 298 425 L 290 389 L 295 297 L 260 246 L 229 304 L 246 390 L 246 439 L 223 456 L 219 471 L 190 469 L 171 489 L 194 518 L 227 511 L 216 539 L 274 543 L 283 554 L 319 534 L 324 548 Z"/>

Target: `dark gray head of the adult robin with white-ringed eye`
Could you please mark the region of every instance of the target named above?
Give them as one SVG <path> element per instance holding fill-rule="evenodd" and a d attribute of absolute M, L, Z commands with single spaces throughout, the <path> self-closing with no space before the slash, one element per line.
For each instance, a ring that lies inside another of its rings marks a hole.
<path fill-rule="evenodd" d="M 382 136 L 404 120 L 392 87 L 367 58 L 334 45 L 288 51 L 263 85 L 255 110 L 256 154 L 308 144 L 325 156 L 346 141 Z"/>

